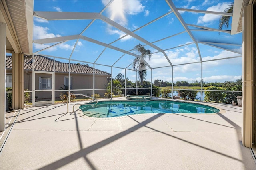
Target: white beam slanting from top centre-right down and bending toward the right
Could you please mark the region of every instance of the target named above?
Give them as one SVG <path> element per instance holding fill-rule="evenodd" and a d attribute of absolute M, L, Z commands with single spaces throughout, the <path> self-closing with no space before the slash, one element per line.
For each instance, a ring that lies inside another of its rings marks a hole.
<path fill-rule="evenodd" d="M 190 36 L 190 38 L 193 40 L 193 42 L 196 44 L 196 48 L 198 51 L 198 55 L 200 58 L 200 61 L 202 62 L 202 57 L 201 57 L 201 53 L 200 53 L 200 49 L 198 47 L 198 43 L 196 41 L 196 38 L 194 37 L 194 35 L 192 34 L 192 32 L 189 30 L 188 26 L 186 25 L 185 21 L 183 20 L 182 16 L 180 15 L 180 13 L 178 12 L 178 10 L 176 9 L 174 3 L 171 0 L 166 0 L 168 6 L 171 8 L 171 10 L 173 11 L 173 13 L 175 14 L 175 16 L 178 18 L 178 20 L 180 21 L 180 23 L 182 24 L 182 26 L 185 28 L 186 32 L 188 33 L 188 35 Z"/>

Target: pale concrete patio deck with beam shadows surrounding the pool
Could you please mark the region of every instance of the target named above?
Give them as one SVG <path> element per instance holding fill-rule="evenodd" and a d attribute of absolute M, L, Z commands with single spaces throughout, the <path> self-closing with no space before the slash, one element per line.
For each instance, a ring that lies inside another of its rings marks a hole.
<path fill-rule="evenodd" d="M 10 116 L 0 169 L 256 169 L 241 107 L 210 105 L 223 113 L 96 119 L 66 104 L 22 109 Z"/>

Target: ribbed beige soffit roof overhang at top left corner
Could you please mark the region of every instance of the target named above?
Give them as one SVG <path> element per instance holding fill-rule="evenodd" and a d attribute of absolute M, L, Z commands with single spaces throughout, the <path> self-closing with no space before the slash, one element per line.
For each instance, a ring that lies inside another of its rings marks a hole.
<path fill-rule="evenodd" d="M 6 23 L 6 51 L 33 54 L 33 0 L 1 0 L 1 22 Z"/>

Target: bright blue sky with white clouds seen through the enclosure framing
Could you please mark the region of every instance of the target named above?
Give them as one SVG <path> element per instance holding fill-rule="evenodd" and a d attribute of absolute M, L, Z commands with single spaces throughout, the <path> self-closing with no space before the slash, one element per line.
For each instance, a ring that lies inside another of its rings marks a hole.
<path fill-rule="evenodd" d="M 52 11 L 52 12 L 101 12 L 106 4 L 107 0 L 35 0 L 34 11 Z M 224 9 L 233 1 L 227 0 L 178 0 L 173 1 L 176 8 L 196 9 L 196 10 L 209 10 L 223 12 Z M 120 24 L 124 28 L 134 31 L 148 22 L 155 20 L 156 18 L 167 14 L 166 16 L 156 20 L 152 24 L 149 24 L 141 29 L 136 30 L 134 33 L 144 40 L 153 43 L 160 49 L 163 49 L 170 59 L 173 65 L 179 65 L 183 63 L 199 62 L 200 57 L 197 47 L 189 34 L 185 32 L 184 27 L 180 21 L 176 18 L 174 13 L 170 13 L 170 7 L 165 0 L 130 0 L 122 1 L 117 0 L 112 2 L 104 12 L 103 16 L 110 18 L 116 23 Z M 179 11 L 186 24 L 192 24 L 197 26 L 204 26 L 210 28 L 218 28 L 219 15 L 203 14 L 195 12 Z M 52 38 L 58 36 L 69 36 L 80 34 L 92 20 L 56 20 L 47 21 L 41 18 L 34 17 L 34 36 L 33 39 Z M 231 24 L 231 20 L 230 20 Z M 188 26 L 190 29 L 196 29 L 193 26 Z M 231 29 L 224 28 L 224 29 Z M 196 40 L 200 42 L 219 42 L 219 43 L 231 43 L 237 45 L 218 45 L 220 48 L 212 47 L 210 45 L 216 45 L 214 43 L 205 45 L 198 43 L 202 61 L 220 59 L 226 57 L 241 56 L 242 47 L 242 34 L 230 35 L 227 33 L 212 32 L 212 31 L 192 31 Z M 173 36 L 176 35 L 177 36 Z M 144 42 L 137 40 L 131 36 L 126 36 L 121 40 L 116 41 L 118 38 L 125 35 L 121 30 L 110 26 L 102 20 L 95 20 L 90 27 L 82 34 L 88 38 L 110 44 L 114 47 L 136 53 L 134 50 L 135 45 L 138 43 L 145 45 Z M 170 38 L 166 38 L 171 36 Z M 166 38 L 165 40 L 161 40 Z M 159 41 L 161 40 L 161 41 Z M 116 42 L 114 42 L 116 41 Z M 70 40 L 50 49 L 41 51 L 41 55 L 50 55 L 55 57 L 69 58 L 76 40 Z M 53 43 L 54 44 L 54 43 Z M 37 44 L 34 43 L 34 52 L 44 49 L 53 44 Z M 189 44 L 189 45 L 186 45 Z M 177 47 L 184 45 L 182 47 Z M 174 48 L 176 47 L 176 48 Z M 150 60 L 146 60 L 153 69 L 152 78 L 160 79 L 163 81 L 172 81 L 172 67 L 170 66 L 166 57 L 162 52 L 157 49 L 145 46 L 146 49 L 150 49 L 153 53 Z M 229 49 L 230 51 L 223 50 Z M 82 39 L 78 40 L 76 48 L 74 49 L 71 59 L 85 61 L 90 66 L 91 63 L 95 65 L 96 69 L 111 73 L 111 67 L 103 65 L 114 65 L 115 67 L 128 67 L 134 56 L 125 54 L 113 49 L 106 49 L 105 47 L 88 42 Z M 234 53 L 231 51 L 237 51 Z M 99 57 L 100 56 L 100 57 Z M 121 57 L 121 58 L 120 58 Z M 56 59 L 62 62 L 68 62 L 68 60 Z M 117 62 L 116 62 L 117 61 Z M 78 63 L 78 61 L 71 61 L 72 63 Z M 116 63 L 115 63 L 116 62 Z M 128 69 L 132 69 L 129 66 Z M 118 73 L 125 74 L 124 69 L 113 68 L 113 77 L 116 77 Z M 173 80 L 176 81 L 200 81 L 201 79 L 201 64 L 187 64 L 173 67 Z M 216 60 L 210 62 L 203 62 L 203 79 L 205 82 L 224 82 L 227 80 L 235 81 L 242 75 L 242 58 Z M 134 71 L 126 70 L 126 77 L 135 81 L 136 76 Z M 147 71 L 147 80 L 151 81 L 151 70 Z"/>

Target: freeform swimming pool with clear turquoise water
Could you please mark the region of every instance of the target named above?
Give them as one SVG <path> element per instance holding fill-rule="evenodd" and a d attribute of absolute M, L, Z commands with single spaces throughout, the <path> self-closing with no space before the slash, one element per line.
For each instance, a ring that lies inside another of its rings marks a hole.
<path fill-rule="evenodd" d="M 170 100 L 151 101 L 98 101 L 96 105 L 81 105 L 89 117 L 119 117 L 144 113 L 217 113 L 220 110 L 198 103 Z"/>

